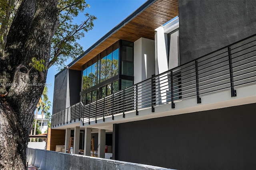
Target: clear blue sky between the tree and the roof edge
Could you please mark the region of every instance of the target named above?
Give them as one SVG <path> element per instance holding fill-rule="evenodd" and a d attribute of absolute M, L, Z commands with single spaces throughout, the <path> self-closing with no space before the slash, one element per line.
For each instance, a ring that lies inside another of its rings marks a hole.
<path fill-rule="evenodd" d="M 147 0 L 87 0 L 86 2 L 90 4 L 90 8 L 86 9 L 85 12 L 96 16 L 97 20 L 94 21 L 94 28 L 88 33 L 85 33 L 85 37 L 80 39 L 78 43 L 82 45 L 83 50 L 85 51 L 146 1 Z M 74 22 L 79 24 L 84 20 L 83 17 L 84 15 L 80 14 L 78 18 L 74 19 Z M 69 64 L 70 62 L 71 60 L 68 60 L 66 64 Z M 48 70 L 46 79 L 46 83 L 51 84 L 51 86 L 48 86 L 48 97 L 52 104 L 54 76 L 58 72 L 57 68 L 52 66 Z M 52 107 L 50 112 L 52 113 Z"/>

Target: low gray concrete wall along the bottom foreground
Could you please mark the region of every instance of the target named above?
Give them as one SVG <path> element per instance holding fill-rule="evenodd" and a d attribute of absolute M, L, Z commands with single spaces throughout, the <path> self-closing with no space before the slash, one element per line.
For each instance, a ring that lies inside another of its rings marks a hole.
<path fill-rule="evenodd" d="M 31 148 L 27 149 L 27 161 L 40 170 L 167 170 L 150 165 Z"/>

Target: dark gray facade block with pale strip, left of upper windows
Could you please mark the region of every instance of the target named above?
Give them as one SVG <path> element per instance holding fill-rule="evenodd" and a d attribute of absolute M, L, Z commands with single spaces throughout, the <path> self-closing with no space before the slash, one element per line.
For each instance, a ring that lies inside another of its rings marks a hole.
<path fill-rule="evenodd" d="M 80 101 L 80 88 L 81 71 L 65 69 L 56 74 L 52 114 L 78 103 Z"/>

